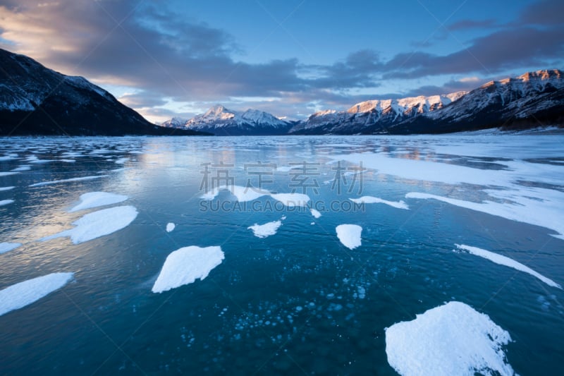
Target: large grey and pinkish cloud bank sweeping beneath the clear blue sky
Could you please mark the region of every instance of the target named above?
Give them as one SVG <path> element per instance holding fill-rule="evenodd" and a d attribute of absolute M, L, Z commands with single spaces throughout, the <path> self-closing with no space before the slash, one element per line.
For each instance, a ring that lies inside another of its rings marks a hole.
<path fill-rule="evenodd" d="M 416 86 L 424 77 L 491 77 L 523 66 L 551 67 L 563 63 L 564 56 L 562 1 L 532 4 L 515 23 L 507 25 L 496 25 L 494 20 L 453 23 L 448 32 L 493 29 L 445 54 L 430 54 L 417 46 L 414 51 L 383 59 L 378 51 L 367 48 L 350 52 L 340 61 L 317 65 L 306 65 L 291 56 L 262 63 L 236 61 L 233 56 L 242 54 L 232 35 L 170 11 L 166 3 L 4 0 L 0 4 L 0 46 L 62 73 L 84 75 L 102 86 L 135 88 L 135 94 L 123 95 L 121 100 L 155 116 L 173 111 L 166 107 L 170 102 L 194 104 L 186 111 L 179 109 L 181 113 L 231 102 L 277 115 L 302 116 L 382 97 L 351 93 L 376 91 L 386 80 L 413 80 Z M 443 30 L 436 39 L 449 35 Z M 450 80 L 419 87 L 407 95 L 469 90 L 476 84 Z M 277 100 L 247 99 L 243 103 L 234 97 Z"/>

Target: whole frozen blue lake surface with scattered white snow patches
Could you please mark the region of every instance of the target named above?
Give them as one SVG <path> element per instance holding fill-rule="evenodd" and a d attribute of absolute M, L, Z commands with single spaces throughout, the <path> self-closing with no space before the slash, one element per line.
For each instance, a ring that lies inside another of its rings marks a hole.
<path fill-rule="evenodd" d="M 0 372 L 556 375 L 564 136 L 0 139 Z"/>

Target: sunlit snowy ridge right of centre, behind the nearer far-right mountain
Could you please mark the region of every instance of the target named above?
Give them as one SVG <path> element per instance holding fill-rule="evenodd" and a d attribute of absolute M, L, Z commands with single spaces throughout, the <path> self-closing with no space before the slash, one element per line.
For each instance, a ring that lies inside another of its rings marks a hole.
<path fill-rule="evenodd" d="M 466 92 L 454 92 L 431 97 L 369 100 L 357 103 L 347 111 L 319 111 L 309 116 L 307 121 L 294 126 L 290 133 L 362 133 L 364 128 L 374 124 L 379 124 L 385 129 L 405 119 L 442 109 L 465 94 Z"/>

